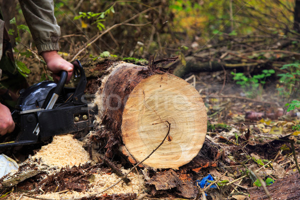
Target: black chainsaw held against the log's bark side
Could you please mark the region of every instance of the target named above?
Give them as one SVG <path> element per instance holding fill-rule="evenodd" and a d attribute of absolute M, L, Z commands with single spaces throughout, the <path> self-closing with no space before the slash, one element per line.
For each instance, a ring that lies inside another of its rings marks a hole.
<path fill-rule="evenodd" d="M 56 84 L 42 81 L 20 91 L 12 112 L 18 129 L 16 139 L 0 143 L 0 147 L 34 144 L 49 140 L 54 135 L 89 130 L 92 125 L 92 109 L 84 98 L 86 77 L 79 60 L 72 62 L 76 87 L 65 87 L 67 72 L 61 71 Z"/>

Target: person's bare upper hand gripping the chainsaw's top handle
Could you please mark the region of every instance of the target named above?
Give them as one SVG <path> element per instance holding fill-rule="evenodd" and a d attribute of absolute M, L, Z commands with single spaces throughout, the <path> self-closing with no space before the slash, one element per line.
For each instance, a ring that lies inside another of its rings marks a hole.
<path fill-rule="evenodd" d="M 44 51 L 40 54 L 44 58 L 47 68 L 53 73 L 53 79 L 55 82 L 59 80 L 59 72 L 61 70 L 68 72 L 66 82 L 71 79 L 74 66 L 70 62 L 60 57 L 56 50 Z"/>

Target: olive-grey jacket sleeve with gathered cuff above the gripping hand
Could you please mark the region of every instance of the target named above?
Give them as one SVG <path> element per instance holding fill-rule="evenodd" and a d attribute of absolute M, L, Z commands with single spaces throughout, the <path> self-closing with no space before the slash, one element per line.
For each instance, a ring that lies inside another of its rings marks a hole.
<path fill-rule="evenodd" d="M 19 0 L 38 53 L 58 50 L 60 27 L 54 16 L 53 0 Z"/>

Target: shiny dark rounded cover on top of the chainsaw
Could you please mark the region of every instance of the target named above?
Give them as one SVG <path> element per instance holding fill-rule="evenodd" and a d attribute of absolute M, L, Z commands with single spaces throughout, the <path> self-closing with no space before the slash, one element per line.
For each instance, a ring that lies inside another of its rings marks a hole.
<path fill-rule="evenodd" d="M 43 104 L 52 89 L 56 87 L 53 81 L 42 81 L 31 85 L 24 91 L 20 91 L 20 96 L 17 100 L 15 109 L 18 111 L 44 108 Z"/>

